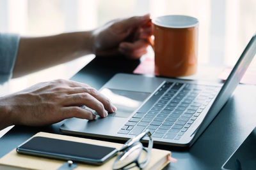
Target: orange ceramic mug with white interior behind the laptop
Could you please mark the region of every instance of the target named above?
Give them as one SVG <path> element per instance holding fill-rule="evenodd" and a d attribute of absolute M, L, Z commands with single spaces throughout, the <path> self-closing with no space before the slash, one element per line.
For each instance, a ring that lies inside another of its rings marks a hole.
<path fill-rule="evenodd" d="M 166 15 L 152 19 L 152 23 L 155 74 L 189 76 L 196 73 L 198 20 L 185 15 Z"/>

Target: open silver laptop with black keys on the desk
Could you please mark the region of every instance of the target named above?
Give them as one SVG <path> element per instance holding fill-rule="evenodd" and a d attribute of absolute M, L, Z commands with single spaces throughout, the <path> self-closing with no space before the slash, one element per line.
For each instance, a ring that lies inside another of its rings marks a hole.
<path fill-rule="evenodd" d="M 232 95 L 255 53 L 256 34 L 224 84 L 115 74 L 100 91 L 115 104 L 116 113 L 106 118 L 97 116 L 92 121 L 70 118 L 60 130 L 67 134 L 127 140 L 149 129 L 154 143 L 191 146 Z"/>

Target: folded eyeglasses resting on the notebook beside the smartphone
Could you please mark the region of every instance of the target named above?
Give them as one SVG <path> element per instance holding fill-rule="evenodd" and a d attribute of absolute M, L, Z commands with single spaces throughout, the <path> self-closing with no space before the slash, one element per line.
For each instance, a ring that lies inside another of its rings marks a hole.
<path fill-rule="evenodd" d="M 145 136 L 148 136 L 148 148 L 145 148 L 140 140 L 144 138 Z M 131 169 L 132 167 L 138 166 L 140 169 L 143 169 L 147 166 L 149 162 L 150 153 L 153 147 L 153 139 L 151 138 L 151 133 L 147 129 L 147 131 L 142 132 L 138 136 L 129 139 L 123 146 L 118 150 L 118 152 L 122 152 L 118 157 L 116 158 L 113 169 Z M 147 156 L 144 160 L 140 160 L 141 153 L 147 152 Z"/>

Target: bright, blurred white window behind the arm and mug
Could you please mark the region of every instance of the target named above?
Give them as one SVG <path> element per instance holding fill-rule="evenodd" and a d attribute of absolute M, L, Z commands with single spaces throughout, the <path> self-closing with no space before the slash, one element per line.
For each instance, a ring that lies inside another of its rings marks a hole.
<path fill-rule="evenodd" d="M 255 33 L 255 6 L 255 0 L 1 0 L 0 31 L 44 36 L 93 29 L 114 18 L 145 13 L 191 15 L 200 21 L 198 62 L 224 67 L 235 64 Z M 152 50 L 148 55 L 154 56 Z M 78 66 L 83 59 L 69 64 Z M 55 69 L 65 73 L 68 66 Z M 256 59 L 252 67 L 256 69 Z"/>

